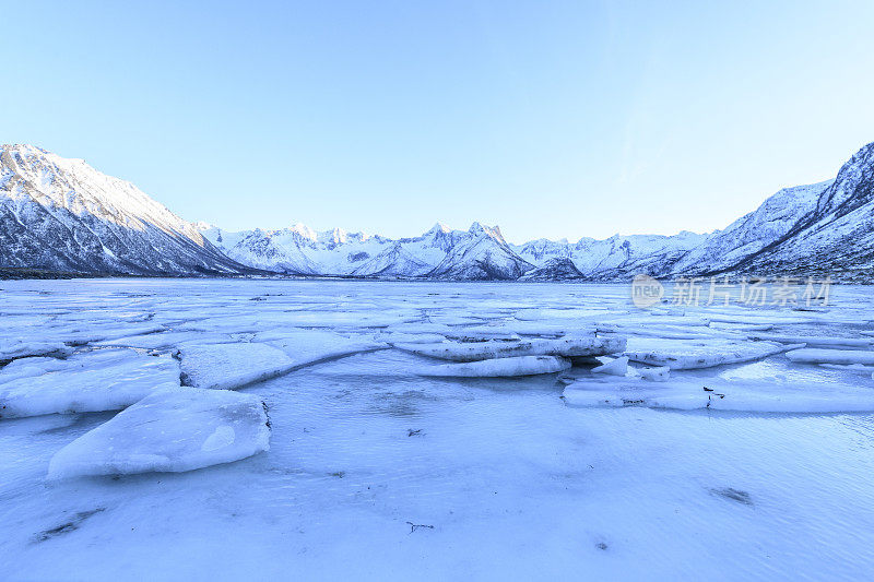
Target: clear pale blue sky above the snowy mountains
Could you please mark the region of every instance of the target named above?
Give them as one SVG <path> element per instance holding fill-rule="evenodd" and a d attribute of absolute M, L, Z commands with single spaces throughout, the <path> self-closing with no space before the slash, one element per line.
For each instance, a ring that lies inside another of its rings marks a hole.
<path fill-rule="evenodd" d="M 874 2 L 0 0 L 0 141 L 227 229 L 728 225 L 874 141 Z"/>

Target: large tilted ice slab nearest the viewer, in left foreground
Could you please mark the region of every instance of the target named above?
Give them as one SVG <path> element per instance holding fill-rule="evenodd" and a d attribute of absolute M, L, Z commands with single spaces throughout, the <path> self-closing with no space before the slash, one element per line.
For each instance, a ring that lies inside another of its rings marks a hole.
<path fill-rule="evenodd" d="M 253 394 L 176 388 L 117 414 L 58 451 L 49 478 L 182 472 L 270 448 L 264 404 Z"/>

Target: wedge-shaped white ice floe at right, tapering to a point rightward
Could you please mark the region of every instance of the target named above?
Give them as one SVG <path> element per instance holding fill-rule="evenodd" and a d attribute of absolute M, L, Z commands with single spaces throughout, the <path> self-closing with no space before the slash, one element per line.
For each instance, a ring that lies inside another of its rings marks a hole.
<path fill-rule="evenodd" d="M 730 340 L 661 340 L 630 337 L 626 355 L 633 361 L 650 366 L 669 366 L 672 370 L 709 368 L 761 359 L 801 345 L 770 342 L 734 342 Z"/>

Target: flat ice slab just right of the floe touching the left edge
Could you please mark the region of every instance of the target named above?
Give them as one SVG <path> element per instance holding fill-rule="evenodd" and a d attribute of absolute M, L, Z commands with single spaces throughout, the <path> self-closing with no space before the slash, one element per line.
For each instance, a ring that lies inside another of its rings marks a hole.
<path fill-rule="evenodd" d="M 186 345 L 179 348 L 185 385 L 236 390 L 292 371 L 294 360 L 267 344 Z"/>

